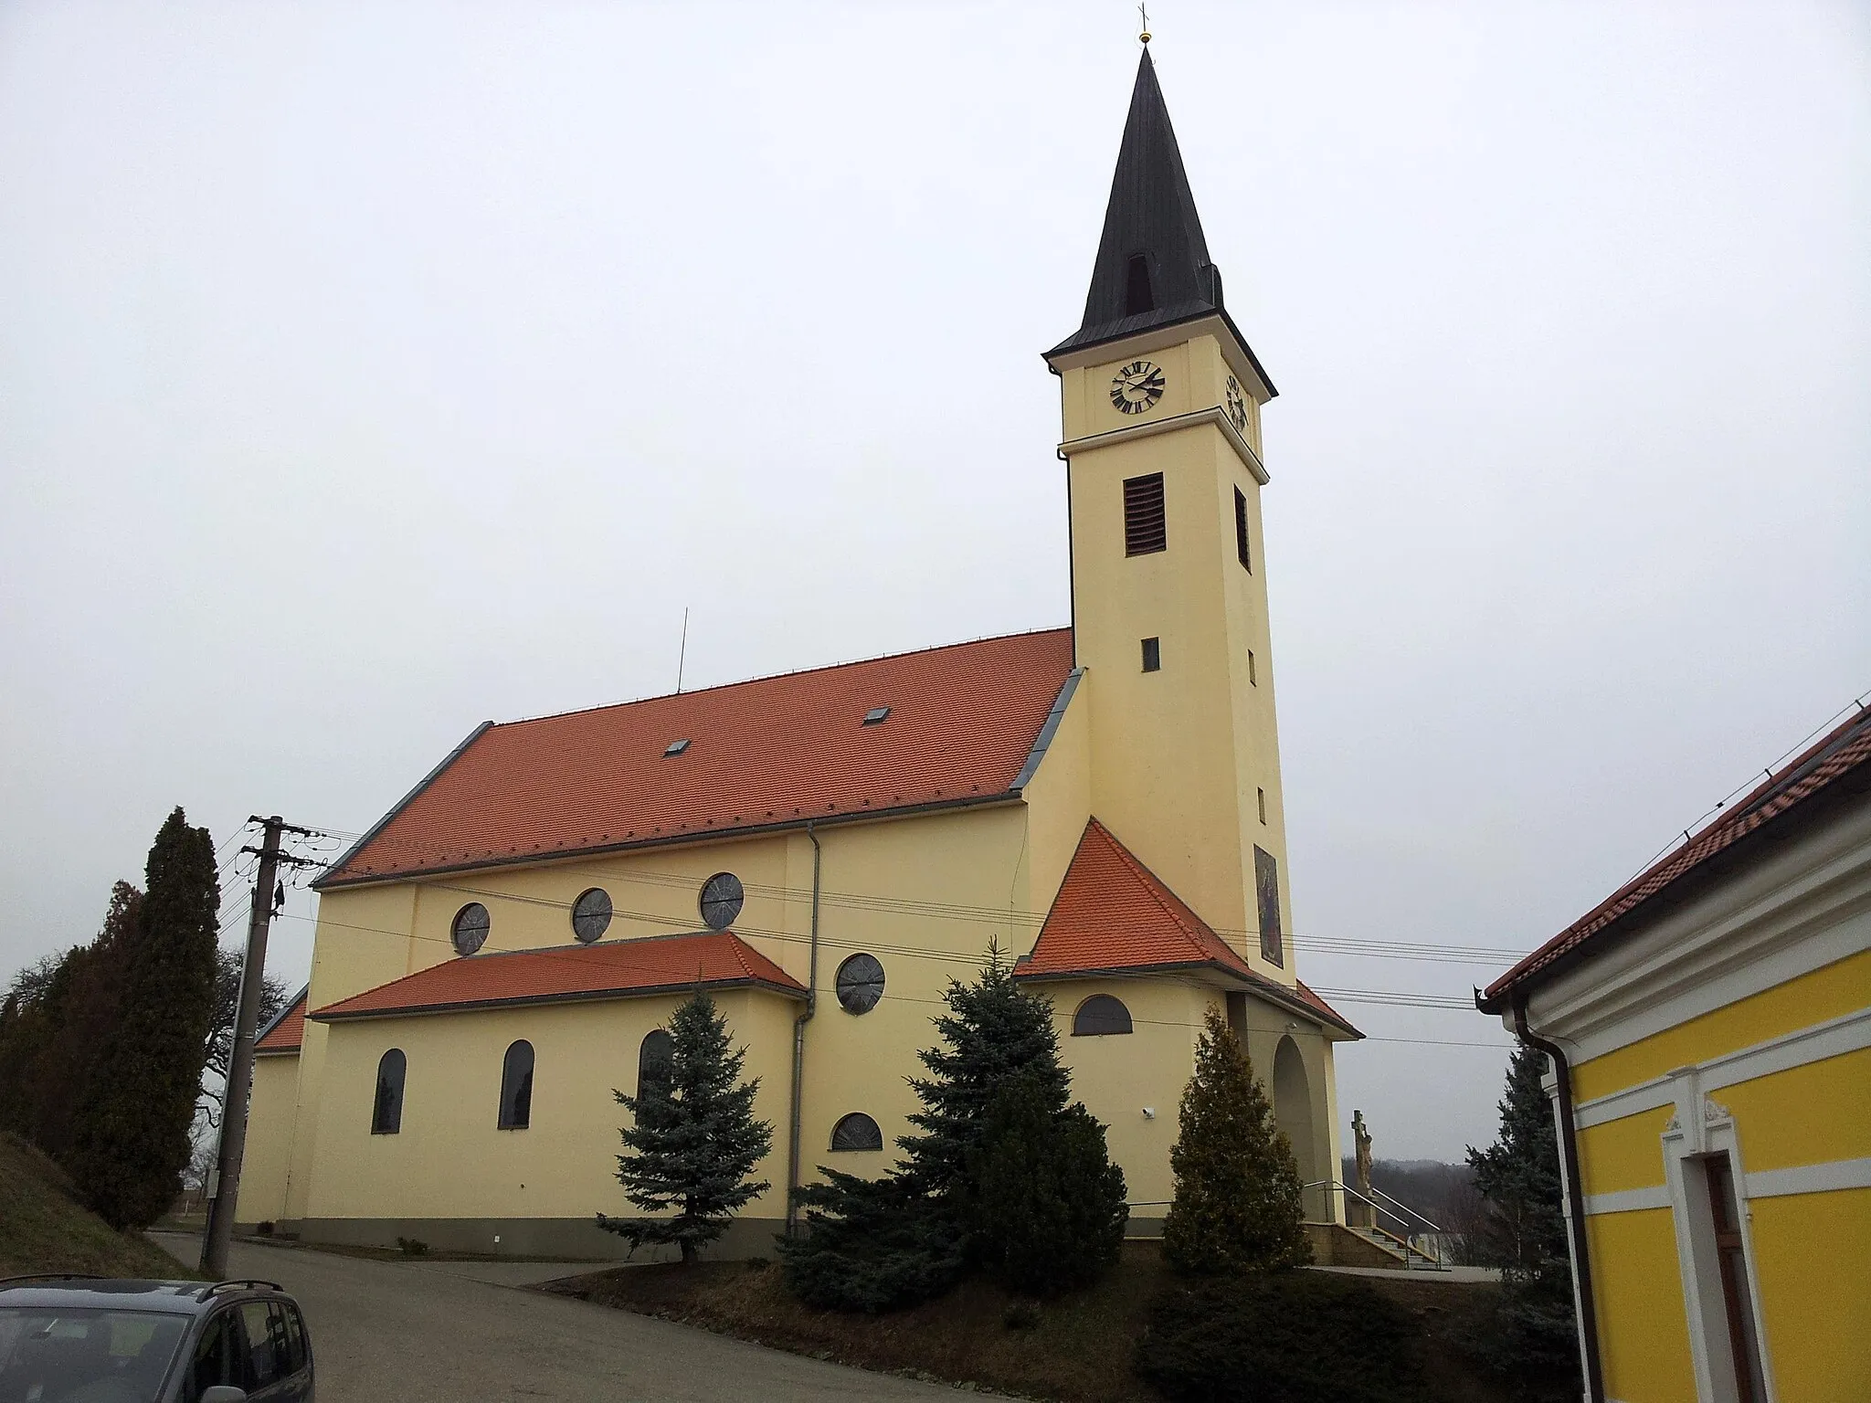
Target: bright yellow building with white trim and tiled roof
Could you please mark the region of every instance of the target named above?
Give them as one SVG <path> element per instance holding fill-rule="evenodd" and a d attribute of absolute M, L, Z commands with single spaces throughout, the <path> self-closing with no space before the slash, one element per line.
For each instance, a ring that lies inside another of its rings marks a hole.
<path fill-rule="evenodd" d="M 1871 711 L 1484 1008 L 1557 1053 L 1588 1396 L 1871 1399 Z"/>

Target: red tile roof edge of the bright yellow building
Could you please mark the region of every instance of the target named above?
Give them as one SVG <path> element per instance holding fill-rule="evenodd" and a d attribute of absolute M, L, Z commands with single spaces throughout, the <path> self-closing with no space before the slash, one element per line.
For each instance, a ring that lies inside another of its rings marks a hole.
<path fill-rule="evenodd" d="M 1506 1006 L 1510 991 L 1534 982 L 1542 971 L 1551 969 L 1574 950 L 1600 945 L 1600 937 L 1611 926 L 1641 911 L 1645 904 L 1658 898 L 1667 887 L 1691 875 L 1704 862 L 1733 847 L 1748 834 L 1811 803 L 1819 793 L 1826 789 L 1835 791 L 1845 776 L 1852 776 L 1845 784 L 1862 791 L 1867 776 L 1871 776 L 1867 765 L 1871 765 L 1871 707 L 1860 707 L 1841 726 L 1828 731 L 1820 741 L 1800 752 L 1798 758 L 1764 778 L 1746 799 L 1691 836 L 1682 847 L 1632 877 L 1489 984 L 1480 999 L 1482 1010 L 1499 1014 Z"/>

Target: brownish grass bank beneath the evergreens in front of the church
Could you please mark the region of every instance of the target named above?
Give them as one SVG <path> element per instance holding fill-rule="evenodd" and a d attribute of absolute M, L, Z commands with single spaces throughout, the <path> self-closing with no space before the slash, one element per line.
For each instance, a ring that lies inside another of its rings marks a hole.
<path fill-rule="evenodd" d="M 1126 1242 L 1117 1270 L 1089 1291 L 1040 1304 L 1029 1328 L 1007 1324 L 1014 1298 L 988 1281 L 965 1281 L 941 1300 L 891 1315 L 812 1309 L 788 1295 L 776 1263 L 623 1266 L 554 1281 L 546 1291 L 866 1369 L 1059 1403 L 1154 1403 L 1162 1396 L 1130 1364 L 1151 1300 L 1171 1280 L 1154 1242 Z M 1499 1287 L 1422 1276 L 1368 1285 L 1422 1323 L 1431 1397 L 1517 1397 L 1480 1371 L 1461 1345 L 1482 1328 Z M 1356 1341 L 1345 1343 L 1356 1349 Z"/>

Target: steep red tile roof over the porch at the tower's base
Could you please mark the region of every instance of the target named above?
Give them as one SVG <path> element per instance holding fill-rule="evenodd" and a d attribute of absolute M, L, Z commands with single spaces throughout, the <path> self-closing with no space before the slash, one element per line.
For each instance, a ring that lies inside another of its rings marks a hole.
<path fill-rule="evenodd" d="M 1085 823 L 1078 851 L 1053 898 L 1033 954 L 1022 956 L 1016 978 L 1121 975 L 1168 969 L 1212 969 L 1254 986 L 1278 1005 L 1323 1018 L 1362 1036 L 1325 999 L 1300 984 L 1254 971 L 1227 941 L 1143 866 L 1098 819 Z"/>

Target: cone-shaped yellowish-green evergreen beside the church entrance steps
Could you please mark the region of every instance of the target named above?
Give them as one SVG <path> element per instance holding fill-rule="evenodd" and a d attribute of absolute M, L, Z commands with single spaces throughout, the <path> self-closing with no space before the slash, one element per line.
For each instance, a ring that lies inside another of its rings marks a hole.
<path fill-rule="evenodd" d="M 1235 1031 L 1211 1006 L 1182 1089 L 1164 1255 L 1190 1274 L 1255 1272 L 1312 1261 L 1293 1145 Z"/>

